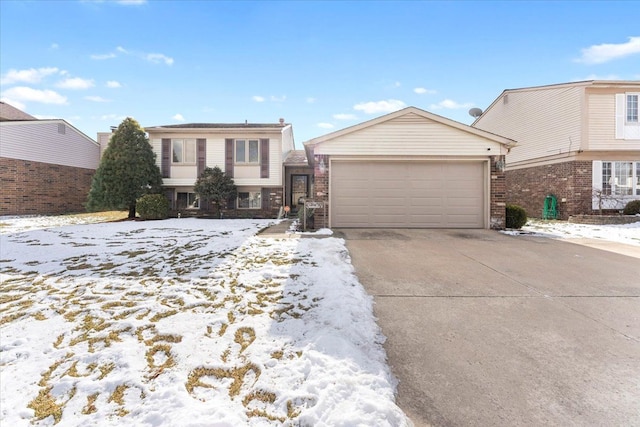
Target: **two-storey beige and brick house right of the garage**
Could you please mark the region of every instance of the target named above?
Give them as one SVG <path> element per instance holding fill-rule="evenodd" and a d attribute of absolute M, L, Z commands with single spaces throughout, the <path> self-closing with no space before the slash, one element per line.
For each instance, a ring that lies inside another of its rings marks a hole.
<path fill-rule="evenodd" d="M 640 199 L 640 81 L 592 80 L 509 89 L 473 127 L 518 141 L 506 160 L 507 202 L 531 217 L 545 198 L 560 218 Z"/>

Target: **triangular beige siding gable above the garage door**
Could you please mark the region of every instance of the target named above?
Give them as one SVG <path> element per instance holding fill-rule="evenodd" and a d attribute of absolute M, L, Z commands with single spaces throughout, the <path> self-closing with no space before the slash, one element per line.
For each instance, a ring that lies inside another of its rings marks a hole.
<path fill-rule="evenodd" d="M 486 156 L 498 155 L 501 149 L 497 142 L 411 113 L 325 141 L 315 147 L 314 152 L 330 155 Z"/>

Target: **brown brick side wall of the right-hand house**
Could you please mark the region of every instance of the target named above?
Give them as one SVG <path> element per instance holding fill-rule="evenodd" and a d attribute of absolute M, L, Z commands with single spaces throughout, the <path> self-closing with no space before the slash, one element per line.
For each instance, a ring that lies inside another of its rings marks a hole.
<path fill-rule="evenodd" d="M 531 218 L 541 218 L 544 199 L 552 194 L 558 200 L 560 219 L 591 214 L 591 165 L 570 161 L 507 171 L 507 203 L 522 206 Z"/>

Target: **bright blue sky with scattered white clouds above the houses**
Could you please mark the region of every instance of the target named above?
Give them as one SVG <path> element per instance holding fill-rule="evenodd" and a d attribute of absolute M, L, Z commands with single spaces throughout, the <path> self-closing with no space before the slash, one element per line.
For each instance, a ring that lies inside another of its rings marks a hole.
<path fill-rule="evenodd" d="M 0 1 L 0 96 L 96 138 L 415 106 L 470 124 L 504 89 L 640 80 L 640 2 Z"/>

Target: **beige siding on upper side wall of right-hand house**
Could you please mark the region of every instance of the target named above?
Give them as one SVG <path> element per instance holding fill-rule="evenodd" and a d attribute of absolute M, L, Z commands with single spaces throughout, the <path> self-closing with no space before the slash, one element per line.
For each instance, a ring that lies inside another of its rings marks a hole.
<path fill-rule="evenodd" d="M 474 127 L 517 141 L 507 164 L 578 151 L 584 149 L 583 93 L 584 86 L 507 92 Z"/>

